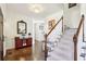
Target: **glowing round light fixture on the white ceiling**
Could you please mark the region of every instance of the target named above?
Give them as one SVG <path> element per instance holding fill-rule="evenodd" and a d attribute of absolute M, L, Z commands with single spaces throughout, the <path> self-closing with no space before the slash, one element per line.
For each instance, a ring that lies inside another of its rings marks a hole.
<path fill-rule="evenodd" d="M 44 8 L 41 4 L 29 4 L 29 10 L 35 13 L 40 13 L 44 11 Z"/>

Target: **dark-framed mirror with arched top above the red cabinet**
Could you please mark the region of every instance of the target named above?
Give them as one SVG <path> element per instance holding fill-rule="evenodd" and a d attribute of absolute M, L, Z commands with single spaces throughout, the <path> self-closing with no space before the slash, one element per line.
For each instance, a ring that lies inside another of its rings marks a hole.
<path fill-rule="evenodd" d="M 17 22 L 17 34 L 26 34 L 27 33 L 27 26 L 24 21 Z"/>

